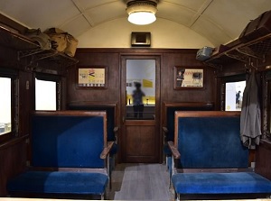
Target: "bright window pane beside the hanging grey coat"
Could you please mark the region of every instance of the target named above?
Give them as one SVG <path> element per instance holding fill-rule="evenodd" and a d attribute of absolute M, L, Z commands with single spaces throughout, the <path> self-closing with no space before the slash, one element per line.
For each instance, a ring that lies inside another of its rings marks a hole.
<path fill-rule="evenodd" d="M 226 111 L 240 111 L 243 102 L 243 93 L 246 87 L 246 81 L 226 83 Z"/>

